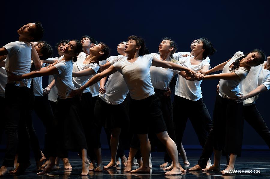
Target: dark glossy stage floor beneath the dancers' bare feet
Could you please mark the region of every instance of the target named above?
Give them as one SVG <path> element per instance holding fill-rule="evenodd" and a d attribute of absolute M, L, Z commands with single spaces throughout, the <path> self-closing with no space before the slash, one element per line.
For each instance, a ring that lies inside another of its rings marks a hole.
<path fill-rule="evenodd" d="M 108 150 L 104 150 L 103 152 L 103 162 L 104 164 L 109 163 L 110 161 L 110 153 Z M 126 152 L 128 155 L 128 151 Z M 186 150 L 188 160 L 190 165 L 184 165 L 184 169 L 189 169 L 197 163 L 198 157 L 201 153 L 200 150 Z M 76 156 L 75 153 L 70 154 L 70 163 L 73 167 L 72 170 L 64 170 L 62 163 L 60 163 L 60 169 L 58 171 L 54 171 L 48 173 L 43 176 L 37 175 L 35 170 L 35 160 L 31 158 L 31 166 L 26 170 L 24 175 L 15 176 L 15 175 L 6 175 L 2 178 L 37 178 L 37 179 L 47 179 L 47 178 L 63 178 L 63 179 L 90 179 L 90 178 L 127 178 L 127 179 L 154 179 L 154 178 L 169 178 L 169 179 L 178 179 L 178 178 L 270 178 L 270 151 L 243 151 L 242 157 L 237 158 L 235 169 L 236 170 L 249 170 L 249 172 L 253 172 L 254 170 L 259 170 L 260 173 L 246 173 L 246 174 L 234 174 L 234 175 L 221 175 L 220 172 L 186 172 L 182 173 L 182 175 L 176 176 L 165 176 L 163 168 L 159 165 L 163 163 L 163 154 L 162 153 L 151 153 L 152 154 L 152 165 L 153 168 L 151 172 L 148 173 L 124 173 L 124 166 L 121 167 L 113 167 L 111 169 L 104 169 L 103 172 L 89 172 L 88 176 L 80 176 L 81 173 L 81 161 Z M 0 162 L 2 163 L 3 153 L 0 153 Z M 211 157 L 213 164 L 213 157 Z M 182 161 L 181 161 L 182 162 Z M 225 169 L 226 159 L 222 157 L 221 167 Z M 137 167 L 133 167 L 136 169 Z"/>

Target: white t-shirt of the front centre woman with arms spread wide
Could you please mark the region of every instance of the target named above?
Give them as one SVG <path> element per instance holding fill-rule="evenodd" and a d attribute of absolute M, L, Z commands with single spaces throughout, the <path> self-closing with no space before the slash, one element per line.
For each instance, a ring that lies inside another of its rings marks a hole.
<path fill-rule="evenodd" d="M 128 60 L 121 60 L 113 64 L 122 73 L 132 99 L 145 99 L 155 94 L 150 77 L 152 60 L 153 56 L 143 55 L 139 56 L 133 63 Z"/>

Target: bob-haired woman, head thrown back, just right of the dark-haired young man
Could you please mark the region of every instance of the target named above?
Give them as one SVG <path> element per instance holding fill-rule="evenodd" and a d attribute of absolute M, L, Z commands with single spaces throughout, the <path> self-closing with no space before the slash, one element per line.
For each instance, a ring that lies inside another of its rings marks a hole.
<path fill-rule="evenodd" d="M 104 43 L 99 43 L 98 45 L 95 44 L 89 50 L 90 55 L 85 58 L 86 54 L 84 52 L 81 52 L 77 58 L 78 60 L 73 64 L 72 81 L 76 88 L 81 87 L 88 81 L 88 79 L 91 79 L 99 70 L 99 61 L 107 59 L 110 54 L 110 48 Z M 80 103 L 82 111 L 89 111 L 91 109 L 94 109 L 95 106 L 92 105 L 92 94 L 90 92 L 90 88 L 86 88 L 83 91 Z M 94 114 L 91 115 L 93 116 Z M 100 116 L 97 116 L 97 118 L 94 119 L 99 118 Z M 99 130 L 96 129 L 96 126 L 94 126 L 95 121 L 92 121 L 92 119 L 89 120 L 88 113 L 81 114 L 81 121 L 87 140 L 88 153 L 90 153 L 91 149 L 93 149 L 95 150 L 95 153 L 98 157 L 98 166 L 95 171 L 100 171 L 100 169 L 102 171 L 103 163 L 101 157 L 101 144 L 99 141 L 99 137 L 96 137 L 97 135 L 100 135 L 98 134 Z M 91 129 L 89 129 L 89 126 L 91 127 Z M 95 167 L 95 162 L 92 161 L 92 155 L 90 156 L 90 158 L 91 162 L 93 162 L 93 167 Z"/>

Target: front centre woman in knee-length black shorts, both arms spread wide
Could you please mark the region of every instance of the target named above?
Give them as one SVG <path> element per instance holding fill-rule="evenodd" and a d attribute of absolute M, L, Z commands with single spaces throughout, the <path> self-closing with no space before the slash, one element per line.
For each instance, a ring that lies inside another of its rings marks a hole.
<path fill-rule="evenodd" d="M 125 48 L 125 53 L 128 54 L 128 58 L 118 61 L 105 71 L 95 75 L 84 86 L 76 89 L 70 95 L 81 95 L 86 87 L 91 86 L 105 76 L 111 75 L 117 71 L 121 72 L 130 90 L 131 104 L 129 112 L 133 127 L 137 130 L 136 133 L 140 139 L 143 157 L 143 166 L 131 172 L 150 172 L 150 143 L 148 133 L 149 130 L 151 130 L 152 132 L 155 132 L 158 139 L 166 145 L 170 157 L 173 159 L 173 162 L 176 163 L 176 165 L 173 166 L 173 170 L 167 172 L 166 175 L 178 175 L 181 174 L 181 171 L 178 163 L 176 145 L 167 133 L 160 109 L 160 101 L 155 95 L 154 88 L 151 84 L 150 66 L 154 65 L 182 70 L 186 71 L 187 75 L 190 76 L 193 76 L 195 72 L 175 63 L 163 62 L 151 55 L 143 55 L 144 47 L 145 44 L 143 39 L 137 36 L 130 36 Z"/>

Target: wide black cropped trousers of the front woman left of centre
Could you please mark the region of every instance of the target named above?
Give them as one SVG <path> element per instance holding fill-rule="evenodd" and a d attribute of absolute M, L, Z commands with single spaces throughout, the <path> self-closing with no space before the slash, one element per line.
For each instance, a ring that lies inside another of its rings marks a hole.
<path fill-rule="evenodd" d="M 66 158 L 67 151 L 80 151 L 87 149 L 84 130 L 80 119 L 79 97 L 57 99 L 55 116 L 57 127 L 55 129 L 56 150 L 50 156 Z"/>

